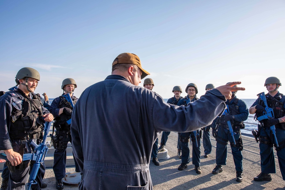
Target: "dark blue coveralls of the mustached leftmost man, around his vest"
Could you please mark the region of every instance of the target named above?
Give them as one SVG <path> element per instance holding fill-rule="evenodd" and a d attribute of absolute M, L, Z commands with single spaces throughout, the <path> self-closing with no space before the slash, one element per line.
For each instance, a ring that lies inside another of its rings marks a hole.
<path fill-rule="evenodd" d="M 32 98 L 32 94 L 29 94 L 29 97 Z M 9 137 L 9 131 L 13 130 L 11 129 L 11 115 L 12 113 L 15 113 L 17 110 L 22 110 L 23 108 L 23 102 L 24 102 L 23 95 L 16 93 L 15 91 L 9 91 L 6 92 L 5 95 L 1 96 L 0 98 L 0 109 L 3 110 L 3 114 L 0 114 L 0 150 L 8 150 L 12 149 L 16 152 L 19 152 L 20 149 L 20 142 L 21 139 L 14 139 L 12 138 L 10 140 Z M 40 99 L 42 102 L 44 101 L 42 98 Z M 44 102 L 45 103 L 45 102 Z M 47 106 L 47 104 L 45 104 Z M 43 115 L 46 113 L 49 113 L 46 108 L 41 106 Z M 6 127 L 7 125 L 7 127 Z M 42 125 L 42 128 L 43 125 Z M 24 154 L 31 153 L 32 148 L 30 146 L 30 141 L 35 141 L 37 144 L 40 144 L 40 139 L 32 139 L 26 140 L 26 147 L 24 150 Z M 12 145 L 12 146 L 11 146 Z M 27 161 L 24 161 L 25 163 Z M 23 163 L 24 163 L 23 162 Z M 28 180 L 28 173 L 30 173 L 30 170 L 32 168 L 32 164 L 30 164 L 30 167 L 23 168 L 22 170 L 15 170 L 14 172 L 10 172 L 8 169 L 8 166 L 4 165 L 3 172 L 2 172 L 2 178 L 6 179 L 9 177 L 9 183 L 8 183 L 8 189 L 22 189 L 25 187 L 25 184 Z M 32 189 L 41 189 L 42 186 L 42 179 L 44 178 L 45 173 L 45 165 L 44 162 L 40 163 L 40 168 L 38 170 L 37 176 L 35 181 L 37 184 L 32 185 Z"/>

